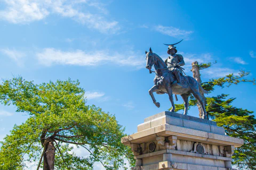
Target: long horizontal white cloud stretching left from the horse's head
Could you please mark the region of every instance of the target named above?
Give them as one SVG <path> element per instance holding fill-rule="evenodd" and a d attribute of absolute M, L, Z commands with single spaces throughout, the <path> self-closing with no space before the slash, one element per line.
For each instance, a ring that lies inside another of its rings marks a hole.
<path fill-rule="evenodd" d="M 45 48 L 42 53 L 36 54 L 39 62 L 46 66 L 53 64 L 97 66 L 106 63 L 133 66 L 140 69 L 145 65 L 145 56 L 127 52 L 126 54 L 110 53 L 107 50 L 84 52 L 82 50 L 62 51 L 54 48 Z"/>

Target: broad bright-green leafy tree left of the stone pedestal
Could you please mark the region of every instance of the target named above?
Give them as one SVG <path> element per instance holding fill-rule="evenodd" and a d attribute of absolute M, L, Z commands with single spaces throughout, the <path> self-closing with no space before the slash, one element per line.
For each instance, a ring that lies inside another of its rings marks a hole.
<path fill-rule="evenodd" d="M 79 82 L 70 79 L 42 84 L 21 77 L 3 81 L 1 103 L 16 106 L 29 118 L 14 125 L 1 142 L 0 169 L 23 169 L 25 161 L 38 162 L 38 169 L 44 170 L 92 169 L 95 162 L 118 169 L 124 159 L 133 165 L 130 148 L 121 143 L 124 128 L 114 115 L 87 106 L 84 94 Z M 73 146 L 86 149 L 89 156 L 76 156 Z"/>

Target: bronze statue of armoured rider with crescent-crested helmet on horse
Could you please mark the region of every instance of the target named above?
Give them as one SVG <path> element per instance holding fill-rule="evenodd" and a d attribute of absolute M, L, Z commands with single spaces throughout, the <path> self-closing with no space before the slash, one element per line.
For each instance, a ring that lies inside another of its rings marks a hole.
<path fill-rule="evenodd" d="M 181 41 L 179 41 L 179 43 Z M 205 100 L 199 93 L 199 91 L 202 91 L 207 94 L 207 91 L 205 91 L 193 77 L 182 74 L 184 69 L 181 66 L 185 65 L 185 62 L 182 55 L 176 54 L 177 49 L 174 47 L 176 44 L 178 43 L 168 45 L 167 53 L 170 56 L 165 60 L 165 62 L 161 57 L 153 53 L 151 47 L 149 52 L 145 52 L 147 60 L 146 68 L 149 70 L 149 73 L 152 73 L 153 71 L 151 71 L 151 69 L 152 66 L 154 66 L 156 73 L 154 79 L 155 85 L 149 90 L 149 95 L 151 96 L 154 104 L 157 107 L 160 107 L 160 104 L 156 102 L 153 92 L 156 92 L 156 94 L 168 94 L 172 104 L 171 112 L 175 111 L 172 95 L 181 95 L 185 105 L 184 115 L 187 115 L 188 97 L 190 94 L 193 94 L 203 107 L 204 115 L 202 118 L 207 118 Z"/>

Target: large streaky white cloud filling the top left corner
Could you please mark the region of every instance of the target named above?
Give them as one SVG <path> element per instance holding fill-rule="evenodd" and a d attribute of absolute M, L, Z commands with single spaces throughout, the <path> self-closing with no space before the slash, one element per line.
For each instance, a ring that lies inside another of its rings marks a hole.
<path fill-rule="evenodd" d="M 50 14 L 58 14 L 102 33 L 117 33 L 120 29 L 117 21 L 111 21 L 101 13 L 95 13 L 95 10 L 91 10 L 93 12 L 88 9 L 86 12 L 79 10 L 81 4 L 85 4 L 106 14 L 106 8 L 99 3 L 79 0 L 4 0 L 4 2 L 6 8 L 0 11 L 0 18 L 15 24 L 26 24 L 42 20 Z"/>

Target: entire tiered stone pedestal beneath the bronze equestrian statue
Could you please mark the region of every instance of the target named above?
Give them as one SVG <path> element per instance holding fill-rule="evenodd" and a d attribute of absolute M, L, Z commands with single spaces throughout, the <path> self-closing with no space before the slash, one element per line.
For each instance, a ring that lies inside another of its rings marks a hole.
<path fill-rule="evenodd" d="M 133 170 L 230 170 L 234 149 L 243 140 L 225 135 L 216 122 L 162 112 L 145 118 L 122 143 L 134 153 Z"/>

